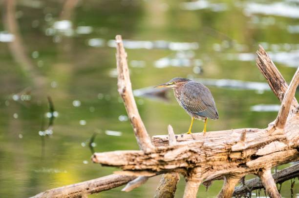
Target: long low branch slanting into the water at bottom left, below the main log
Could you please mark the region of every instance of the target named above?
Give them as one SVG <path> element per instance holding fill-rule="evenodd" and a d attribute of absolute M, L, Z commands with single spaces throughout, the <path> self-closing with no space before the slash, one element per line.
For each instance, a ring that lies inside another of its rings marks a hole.
<path fill-rule="evenodd" d="M 108 175 L 59 188 L 44 191 L 32 198 L 82 198 L 89 194 L 99 193 L 128 183 L 134 176 Z"/>

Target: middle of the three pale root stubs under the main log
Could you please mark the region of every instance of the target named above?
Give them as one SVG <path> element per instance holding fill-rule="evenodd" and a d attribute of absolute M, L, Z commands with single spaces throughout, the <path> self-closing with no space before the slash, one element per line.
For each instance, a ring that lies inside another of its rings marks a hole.
<path fill-rule="evenodd" d="M 242 176 L 225 175 L 222 189 L 216 198 L 231 198 L 235 190 L 235 185 L 241 178 Z"/>

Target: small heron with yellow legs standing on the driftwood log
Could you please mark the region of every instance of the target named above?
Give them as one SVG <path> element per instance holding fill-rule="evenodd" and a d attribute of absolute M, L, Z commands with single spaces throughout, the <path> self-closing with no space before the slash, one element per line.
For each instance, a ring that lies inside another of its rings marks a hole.
<path fill-rule="evenodd" d="M 207 131 L 207 120 L 217 120 L 218 111 L 211 91 L 202 83 L 187 78 L 172 78 L 169 82 L 155 88 L 170 87 L 179 105 L 191 116 L 191 125 L 188 133 L 191 133 L 194 119 L 205 122 L 203 133 Z"/>

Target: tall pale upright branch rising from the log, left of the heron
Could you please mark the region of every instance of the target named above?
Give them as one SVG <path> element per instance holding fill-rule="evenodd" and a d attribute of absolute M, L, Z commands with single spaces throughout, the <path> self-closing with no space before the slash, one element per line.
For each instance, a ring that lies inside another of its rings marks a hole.
<path fill-rule="evenodd" d="M 128 71 L 127 53 L 123 45 L 122 36 L 117 35 L 115 39 L 118 72 L 118 92 L 123 98 L 137 143 L 140 149 L 142 149 L 144 152 L 148 152 L 150 149 L 153 149 L 154 146 L 150 142 L 149 134 L 141 120 L 138 108 L 135 103 Z"/>

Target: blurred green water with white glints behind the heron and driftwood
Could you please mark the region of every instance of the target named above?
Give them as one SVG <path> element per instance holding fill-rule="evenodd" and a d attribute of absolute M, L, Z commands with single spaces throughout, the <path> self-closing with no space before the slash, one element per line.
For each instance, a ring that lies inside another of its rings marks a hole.
<path fill-rule="evenodd" d="M 1 198 L 109 175 L 117 169 L 91 163 L 92 152 L 138 149 L 117 92 L 115 35 L 125 39 L 151 136 L 190 124 L 172 90 L 157 93 L 155 85 L 173 77 L 207 85 L 220 116 L 208 131 L 262 128 L 280 103 L 255 66 L 258 44 L 288 83 L 299 66 L 298 0 L 0 0 L 0 12 Z M 196 121 L 192 131 L 202 128 Z M 158 181 L 90 197 L 152 197 Z M 178 198 L 184 185 L 181 178 Z M 201 186 L 198 197 L 214 198 L 221 186 Z M 283 183 L 283 197 L 290 186 Z"/>

